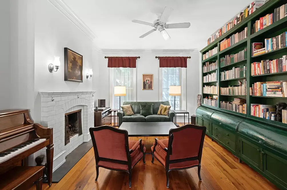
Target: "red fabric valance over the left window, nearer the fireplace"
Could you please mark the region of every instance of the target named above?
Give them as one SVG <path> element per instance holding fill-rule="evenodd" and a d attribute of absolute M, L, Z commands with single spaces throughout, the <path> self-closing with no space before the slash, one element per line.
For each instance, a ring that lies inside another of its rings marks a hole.
<path fill-rule="evenodd" d="M 108 67 L 136 68 L 137 57 L 108 57 Z"/>

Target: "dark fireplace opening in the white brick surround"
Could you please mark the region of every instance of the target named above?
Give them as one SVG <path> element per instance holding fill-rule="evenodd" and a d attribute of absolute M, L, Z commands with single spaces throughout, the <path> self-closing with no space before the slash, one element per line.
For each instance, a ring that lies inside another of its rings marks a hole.
<path fill-rule="evenodd" d="M 65 145 L 70 142 L 70 138 L 78 134 L 83 134 L 82 130 L 82 109 L 65 114 Z"/>

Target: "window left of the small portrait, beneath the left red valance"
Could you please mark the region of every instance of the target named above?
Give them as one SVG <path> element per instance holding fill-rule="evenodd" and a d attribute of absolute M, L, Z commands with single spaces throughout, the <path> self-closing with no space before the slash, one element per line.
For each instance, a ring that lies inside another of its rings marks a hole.
<path fill-rule="evenodd" d="M 126 96 L 114 96 L 115 86 L 125 86 Z M 110 107 L 120 108 L 125 101 L 136 101 L 136 68 L 110 68 Z"/>

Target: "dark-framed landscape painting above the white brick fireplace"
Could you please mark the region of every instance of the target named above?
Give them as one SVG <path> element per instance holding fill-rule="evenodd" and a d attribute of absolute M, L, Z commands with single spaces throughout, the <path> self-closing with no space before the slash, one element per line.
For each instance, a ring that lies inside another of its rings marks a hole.
<path fill-rule="evenodd" d="M 72 82 L 83 82 L 83 56 L 65 47 L 64 63 L 64 80 Z"/>

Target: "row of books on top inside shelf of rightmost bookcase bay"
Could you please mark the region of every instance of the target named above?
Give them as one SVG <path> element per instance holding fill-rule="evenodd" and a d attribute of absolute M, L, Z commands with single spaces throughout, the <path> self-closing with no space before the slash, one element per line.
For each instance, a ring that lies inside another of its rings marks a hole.
<path fill-rule="evenodd" d="M 251 33 L 253 34 L 255 32 L 258 32 L 259 30 L 262 30 L 263 28 L 271 25 L 276 21 L 279 21 L 280 19 L 283 19 L 286 16 L 287 16 L 287 3 L 285 5 L 275 8 L 274 13 L 267 14 L 266 16 L 260 17 L 259 20 L 255 21 Z"/>

